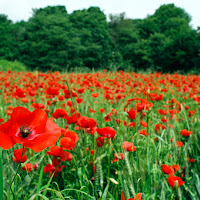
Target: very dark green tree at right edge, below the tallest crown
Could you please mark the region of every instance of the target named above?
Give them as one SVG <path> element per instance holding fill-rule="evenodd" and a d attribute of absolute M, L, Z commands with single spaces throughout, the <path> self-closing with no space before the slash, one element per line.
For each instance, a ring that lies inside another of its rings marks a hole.
<path fill-rule="evenodd" d="M 194 30 L 179 32 L 166 43 L 162 56 L 162 71 L 187 72 L 192 68 L 197 68 L 199 60 L 199 40 L 195 37 Z"/>

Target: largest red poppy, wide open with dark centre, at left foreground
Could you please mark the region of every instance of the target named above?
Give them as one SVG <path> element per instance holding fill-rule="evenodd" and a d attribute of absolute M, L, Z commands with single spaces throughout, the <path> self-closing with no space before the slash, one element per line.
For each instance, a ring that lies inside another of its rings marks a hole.
<path fill-rule="evenodd" d="M 8 122 L 0 125 L 0 146 L 10 149 L 22 144 L 35 152 L 53 146 L 61 135 L 61 129 L 45 111 L 36 109 L 30 112 L 26 108 L 13 109 Z"/>

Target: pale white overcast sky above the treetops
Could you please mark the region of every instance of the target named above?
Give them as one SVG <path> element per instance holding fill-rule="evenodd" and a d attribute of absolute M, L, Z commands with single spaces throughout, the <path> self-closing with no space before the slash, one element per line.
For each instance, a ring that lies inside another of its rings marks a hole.
<path fill-rule="evenodd" d="M 192 17 L 191 25 L 200 26 L 200 0 L 0 0 L 0 14 L 6 14 L 12 21 L 28 20 L 32 8 L 65 5 L 68 13 L 74 10 L 98 6 L 108 16 L 125 12 L 127 18 L 145 18 L 152 15 L 160 5 L 174 3 L 185 9 Z"/>

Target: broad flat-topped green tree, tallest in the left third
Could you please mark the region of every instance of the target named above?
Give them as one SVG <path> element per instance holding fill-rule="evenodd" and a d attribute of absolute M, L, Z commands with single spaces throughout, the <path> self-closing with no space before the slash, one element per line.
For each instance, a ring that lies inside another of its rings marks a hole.
<path fill-rule="evenodd" d="M 62 70 L 68 64 L 70 26 L 64 6 L 34 9 L 24 33 L 20 60 L 31 69 Z"/>

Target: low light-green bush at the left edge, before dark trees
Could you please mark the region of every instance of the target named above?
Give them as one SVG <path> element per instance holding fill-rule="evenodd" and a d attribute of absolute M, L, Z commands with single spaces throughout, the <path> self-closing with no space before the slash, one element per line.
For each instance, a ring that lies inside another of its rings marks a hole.
<path fill-rule="evenodd" d="M 19 61 L 0 60 L 0 71 L 26 71 L 26 66 Z"/>

